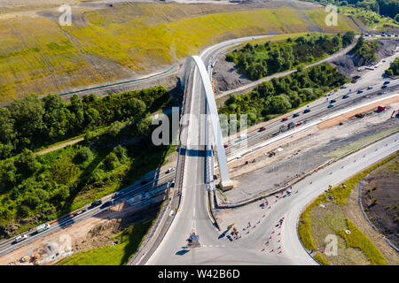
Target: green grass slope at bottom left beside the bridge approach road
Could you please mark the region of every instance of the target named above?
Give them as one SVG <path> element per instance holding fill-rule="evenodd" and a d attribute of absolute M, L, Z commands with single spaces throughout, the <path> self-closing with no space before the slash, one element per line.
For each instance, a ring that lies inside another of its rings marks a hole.
<path fill-rule="evenodd" d="M 118 240 L 115 246 L 90 249 L 68 256 L 58 265 L 124 265 L 139 248 L 145 233 L 153 225 L 153 218 L 129 226 L 122 233 L 115 236 Z"/>

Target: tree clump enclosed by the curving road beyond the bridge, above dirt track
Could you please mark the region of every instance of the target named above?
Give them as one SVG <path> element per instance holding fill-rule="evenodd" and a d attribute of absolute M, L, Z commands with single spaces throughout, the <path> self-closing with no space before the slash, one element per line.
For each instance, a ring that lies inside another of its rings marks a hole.
<path fill-rule="evenodd" d="M 258 80 L 273 73 L 290 70 L 301 64 L 309 64 L 330 55 L 353 42 L 355 33 L 340 35 L 307 34 L 285 42 L 247 43 L 233 50 L 226 60 L 236 63 L 239 73 Z"/>

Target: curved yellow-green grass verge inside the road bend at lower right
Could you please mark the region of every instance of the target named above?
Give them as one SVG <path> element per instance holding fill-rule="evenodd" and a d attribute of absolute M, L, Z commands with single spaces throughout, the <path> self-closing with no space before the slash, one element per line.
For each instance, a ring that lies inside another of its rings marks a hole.
<path fill-rule="evenodd" d="M 326 235 L 337 236 L 338 256 L 318 254 L 317 261 L 321 264 L 387 264 L 379 249 L 346 217 L 344 207 L 348 204 L 351 191 L 360 180 L 398 155 L 399 153 L 395 153 L 345 180 L 346 187 L 332 187 L 329 192 L 319 195 L 302 212 L 298 233 L 306 249 L 323 249 Z M 347 234 L 345 230 L 351 233 Z"/>

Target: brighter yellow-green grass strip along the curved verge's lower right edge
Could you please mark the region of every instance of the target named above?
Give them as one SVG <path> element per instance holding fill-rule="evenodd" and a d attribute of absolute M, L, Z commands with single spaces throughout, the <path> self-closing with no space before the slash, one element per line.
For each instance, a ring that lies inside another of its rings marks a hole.
<path fill-rule="evenodd" d="M 355 224 L 352 223 L 348 218 L 346 219 L 349 234 L 340 230 L 338 233 L 342 238 L 345 239 L 347 246 L 362 249 L 364 253 L 369 257 L 372 265 L 387 265 L 384 256 L 379 252 L 379 249 L 370 241 L 370 239 L 360 231 Z"/>

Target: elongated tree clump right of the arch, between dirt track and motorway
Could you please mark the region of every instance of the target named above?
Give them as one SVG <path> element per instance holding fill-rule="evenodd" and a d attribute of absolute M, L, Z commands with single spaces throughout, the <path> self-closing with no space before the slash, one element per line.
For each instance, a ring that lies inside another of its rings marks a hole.
<path fill-rule="evenodd" d="M 326 63 L 263 82 L 246 95 L 231 96 L 219 113 L 247 115 L 248 125 L 283 114 L 338 88 L 348 78 Z M 225 125 L 223 125 L 223 128 Z"/>

